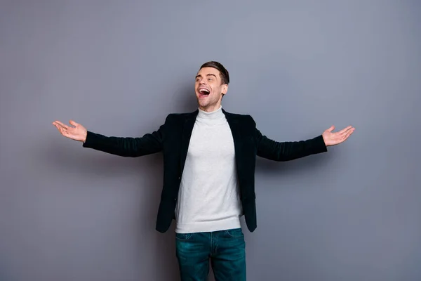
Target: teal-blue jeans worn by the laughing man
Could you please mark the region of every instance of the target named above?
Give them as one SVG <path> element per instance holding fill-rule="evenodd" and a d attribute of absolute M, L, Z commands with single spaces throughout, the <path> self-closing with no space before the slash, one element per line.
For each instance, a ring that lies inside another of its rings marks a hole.
<path fill-rule="evenodd" d="M 246 280 L 246 242 L 241 228 L 210 233 L 175 233 L 182 281 L 206 281 L 209 260 L 216 281 Z"/>

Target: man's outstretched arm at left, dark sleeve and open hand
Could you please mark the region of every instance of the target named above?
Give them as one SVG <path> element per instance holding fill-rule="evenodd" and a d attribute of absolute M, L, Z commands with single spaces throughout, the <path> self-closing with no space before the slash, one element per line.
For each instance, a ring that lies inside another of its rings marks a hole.
<path fill-rule="evenodd" d="M 60 131 L 62 136 L 74 141 L 83 142 L 84 148 L 93 148 L 102 152 L 123 157 L 139 157 L 160 152 L 163 142 L 163 125 L 153 133 L 147 133 L 140 138 L 103 136 L 86 130 L 81 124 L 72 120 L 72 126 L 55 121 L 53 125 Z"/>

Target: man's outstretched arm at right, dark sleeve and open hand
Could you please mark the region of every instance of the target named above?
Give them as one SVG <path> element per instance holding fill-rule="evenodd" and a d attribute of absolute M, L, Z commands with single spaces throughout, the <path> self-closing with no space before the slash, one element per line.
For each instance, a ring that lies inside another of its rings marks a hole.
<path fill-rule="evenodd" d="M 334 126 L 323 132 L 316 138 L 307 141 L 273 141 L 263 136 L 258 129 L 255 131 L 255 139 L 258 145 L 258 156 L 271 159 L 274 161 L 290 161 L 301 157 L 326 152 L 330 145 L 338 145 L 349 138 L 354 132 L 352 126 L 348 126 L 342 131 L 332 133 Z"/>

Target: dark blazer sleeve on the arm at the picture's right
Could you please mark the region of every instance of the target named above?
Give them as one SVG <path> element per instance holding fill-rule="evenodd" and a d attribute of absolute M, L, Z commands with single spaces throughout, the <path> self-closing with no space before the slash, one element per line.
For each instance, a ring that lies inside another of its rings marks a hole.
<path fill-rule="evenodd" d="M 290 161 L 327 151 L 321 135 L 307 141 L 278 142 L 267 138 L 258 129 L 255 129 L 255 140 L 258 149 L 257 155 L 259 157 L 279 162 Z"/>

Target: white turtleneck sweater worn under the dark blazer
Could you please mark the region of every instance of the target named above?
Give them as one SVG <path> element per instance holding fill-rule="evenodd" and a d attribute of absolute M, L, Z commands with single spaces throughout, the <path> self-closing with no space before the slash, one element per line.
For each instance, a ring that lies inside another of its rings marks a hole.
<path fill-rule="evenodd" d="M 199 109 L 175 209 L 176 233 L 240 228 L 234 140 L 222 107 Z"/>

